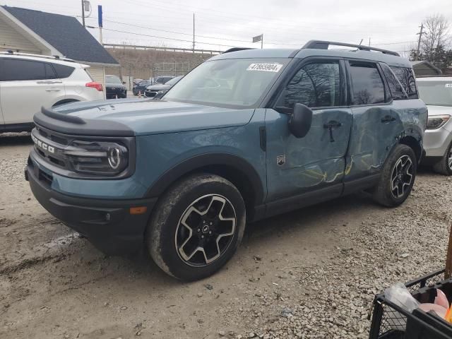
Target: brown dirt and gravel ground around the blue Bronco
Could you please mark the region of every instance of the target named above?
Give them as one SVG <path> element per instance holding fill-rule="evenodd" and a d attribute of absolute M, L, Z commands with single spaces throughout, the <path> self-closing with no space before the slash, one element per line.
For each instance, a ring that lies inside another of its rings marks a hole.
<path fill-rule="evenodd" d="M 399 208 L 357 195 L 249 225 L 218 274 L 179 283 L 52 218 L 30 146 L 0 136 L 0 338 L 367 338 L 376 293 L 444 266 L 452 180 L 422 169 Z"/>

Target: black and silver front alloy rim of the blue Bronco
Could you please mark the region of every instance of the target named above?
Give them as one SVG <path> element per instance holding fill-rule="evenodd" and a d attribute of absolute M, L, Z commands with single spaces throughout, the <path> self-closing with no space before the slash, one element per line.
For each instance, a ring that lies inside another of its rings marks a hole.
<path fill-rule="evenodd" d="M 237 225 L 232 203 L 224 196 L 208 194 L 196 199 L 182 213 L 177 225 L 177 254 L 190 266 L 207 266 L 225 253 Z"/>

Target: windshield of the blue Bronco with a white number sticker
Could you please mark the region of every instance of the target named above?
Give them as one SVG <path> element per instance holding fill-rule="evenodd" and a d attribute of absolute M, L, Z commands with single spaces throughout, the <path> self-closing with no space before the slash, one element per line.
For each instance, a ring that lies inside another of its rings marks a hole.
<path fill-rule="evenodd" d="M 232 108 L 256 107 L 289 59 L 206 61 L 165 95 L 167 101 Z"/>

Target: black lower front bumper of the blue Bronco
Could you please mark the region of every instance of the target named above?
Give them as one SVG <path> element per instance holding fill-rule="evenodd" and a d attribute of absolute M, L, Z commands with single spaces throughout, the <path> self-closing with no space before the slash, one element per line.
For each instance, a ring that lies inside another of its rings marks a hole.
<path fill-rule="evenodd" d="M 67 196 L 51 189 L 49 174 L 32 163 L 25 169 L 25 179 L 39 203 L 55 218 L 87 237 L 106 254 L 137 251 L 157 198 L 92 199 Z M 145 213 L 131 214 L 130 208 L 145 207 Z"/>

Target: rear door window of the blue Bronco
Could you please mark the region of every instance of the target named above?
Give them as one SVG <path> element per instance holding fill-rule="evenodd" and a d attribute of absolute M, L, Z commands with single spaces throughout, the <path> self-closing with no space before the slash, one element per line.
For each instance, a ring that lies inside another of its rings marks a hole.
<path fill-rule="evenodd" d="M 384 85 L 376 64 L 350 62 L 354 105 L 371 105 L 385 102 Z"/>

